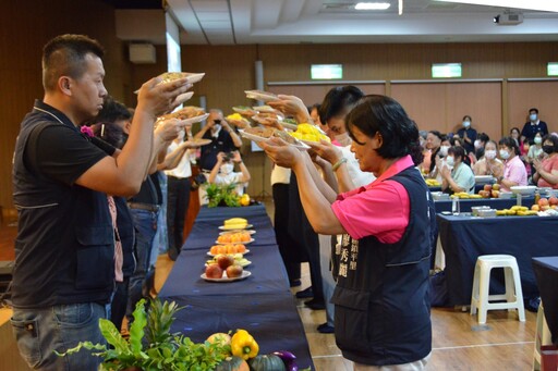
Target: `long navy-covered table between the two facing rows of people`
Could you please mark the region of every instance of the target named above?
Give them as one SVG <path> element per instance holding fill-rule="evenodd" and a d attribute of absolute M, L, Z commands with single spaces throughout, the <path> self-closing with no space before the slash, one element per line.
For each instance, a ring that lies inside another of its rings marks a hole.
<path fill-rule="evenodd" d="M 245 258 L 252 264 L 245 270 L 252 274 L 242 281 L 206 282 L 201 274 L 210 259 L 207 251 L 215 245 L 223 220 L 234 217 L 247 219 L 256 231 L 255 240 L 246 245 L 250 252 Z M 182 332 L 194 342 L 203 342 L 216 332 L 244 329 L 258 342 L 260 354 L 289 350 L 301 368 L 314 368 L 274 228 L 263 206 L 203 207 L 159 297 L 184 307 L 177 313 L 171 331 Z"/>

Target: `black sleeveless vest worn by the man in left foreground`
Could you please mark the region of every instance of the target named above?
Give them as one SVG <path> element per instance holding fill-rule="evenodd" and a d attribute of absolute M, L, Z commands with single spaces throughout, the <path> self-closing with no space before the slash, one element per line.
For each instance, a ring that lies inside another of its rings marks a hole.
<path fill-rule="evenodd" d="M 80 135 L 60 111 L 40 102 L 21 125 L 13 164 L 13 200 L 19 211 L 13 272 L 13 305 L 41 308 L 108 302 L 114 287 L 114 232 L 107 195 L 46 177 L 25 156 L 31 138 L 51 125 Z M 84 146 L 92 146 L 84 138 Z"/>

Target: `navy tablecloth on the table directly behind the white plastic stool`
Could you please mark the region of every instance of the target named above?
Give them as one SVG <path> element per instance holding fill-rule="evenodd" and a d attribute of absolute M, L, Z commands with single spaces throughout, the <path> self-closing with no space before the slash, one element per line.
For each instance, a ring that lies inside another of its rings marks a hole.
<path fill-rule="evenodd" d="M 531 259 L 558 255 L 557 217 L 482 219 L 437 214 L 437 221 L 441 247 L 446 253 L 445 271 L 450 305 L 471 304 L 474 267 L 481 255 L 514 256 L 524 298 L 538 295 Z M 490 282 L 490 289 L 504 290 L 499 280 Z"/>

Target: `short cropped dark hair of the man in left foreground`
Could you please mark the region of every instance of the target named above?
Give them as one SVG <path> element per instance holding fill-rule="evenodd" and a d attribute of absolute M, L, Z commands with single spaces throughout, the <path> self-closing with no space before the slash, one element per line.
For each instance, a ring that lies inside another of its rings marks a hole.
<path fill-rule="evenodd" d="M 83 76 L 87 69 L 85 57 L 102 58 L 105 51 L 97 40 L 84 35 L 60 35 L 43 49 L 43 86 L 46 91 L 56 89 L 60 76 L 74 79 Z"/>

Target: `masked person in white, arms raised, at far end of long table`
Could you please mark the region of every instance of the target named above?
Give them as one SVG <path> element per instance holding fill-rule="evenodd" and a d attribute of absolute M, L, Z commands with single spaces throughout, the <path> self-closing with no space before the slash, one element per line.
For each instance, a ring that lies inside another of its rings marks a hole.
<path fill-rule="evenodd" d="M 234 163 L 239 164 L 240 172 L 234 172 Z M 236 194 L 242 196 L 244 187 L 250 182 L 250 172 L 239 151 L 231 152 L 229 156 L 225 152 L 217 153 L 217 163 L 215 164 L 207 183 L 217 185 L 236 184 Z"/>

